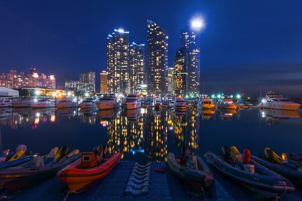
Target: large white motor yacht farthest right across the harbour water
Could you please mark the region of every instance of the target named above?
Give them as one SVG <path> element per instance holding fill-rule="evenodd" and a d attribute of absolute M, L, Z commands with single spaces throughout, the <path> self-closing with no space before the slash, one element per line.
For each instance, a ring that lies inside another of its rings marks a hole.
<path fill-rule="evenodd" d="M 280 93 L 269 91 L 261 100 L 259 107 L 277 110 L 297 110 L 300 104 L 291 102 Z"/>

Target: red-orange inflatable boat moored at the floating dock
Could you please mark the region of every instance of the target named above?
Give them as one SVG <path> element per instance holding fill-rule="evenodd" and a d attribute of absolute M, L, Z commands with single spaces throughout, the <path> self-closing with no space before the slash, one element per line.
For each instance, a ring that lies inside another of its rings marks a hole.
<path fill-rule="evenodd" d="M 121 159 L 120 152 L 110 157 L 106 157 L 106 152 L 105 146 L 104 149 L 99 146 L 93 152 L 82 153 L 80 159 L 57 173 L 57 179 L 68 186 L 69 192 L 83 189 L 87 184 L 106 176 Z"/>

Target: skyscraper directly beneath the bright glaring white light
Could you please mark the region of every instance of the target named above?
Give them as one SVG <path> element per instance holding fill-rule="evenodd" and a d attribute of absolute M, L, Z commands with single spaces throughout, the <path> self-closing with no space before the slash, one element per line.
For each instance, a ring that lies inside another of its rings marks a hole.
<path fill-rule="evenodd" d="M 199 94 L 200 87 L 200 35 L 199 30 L 187 26 L 180 32 L 180 46 L 186 47 L 187 93 Z"/>

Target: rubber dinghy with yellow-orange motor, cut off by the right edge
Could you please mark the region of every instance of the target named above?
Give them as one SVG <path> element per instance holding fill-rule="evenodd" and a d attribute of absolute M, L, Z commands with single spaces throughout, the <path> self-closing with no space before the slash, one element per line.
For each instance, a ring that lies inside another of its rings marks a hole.
<path fill-rule="evenodd" d="M 293 158 L 295 155 L 296 154 L 291 153 L 288 154 L 290 158 Z M 270 148 L 264 149 L 264 157 L 260 158 L 251 156 L 251 159 L 260 165 L 263 165 L 274 172 L 281 174 L 294 184 L 302 185 L 302 161 L 295 161 L 289 158 L 287 159 L 287 154 L 285 153 L 282 153 L 282 157 L 279 157 Z"/>

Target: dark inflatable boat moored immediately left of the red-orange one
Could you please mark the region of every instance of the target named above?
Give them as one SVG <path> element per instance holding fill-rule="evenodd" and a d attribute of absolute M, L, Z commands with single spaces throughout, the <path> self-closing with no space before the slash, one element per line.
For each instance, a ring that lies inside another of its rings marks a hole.
<path fill-rule="evenodd" d="M 63 151 L 68 151 L 68 148 L 62 147 L 60 150 L 60 154 L 59 151 L 55 153 L 55 149 L 52 149 L 47 156 L 34 155 L 30 162 L 0 170 L 0 184 L 8 191 L 18 191 L 29 184 L 55 175 L 63 167 L 81 157 L 79 150 L 67 155 L 65 155 L 67 152 Z"/>

